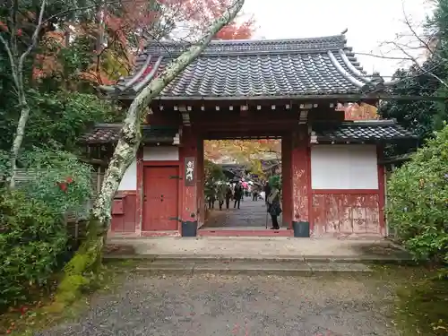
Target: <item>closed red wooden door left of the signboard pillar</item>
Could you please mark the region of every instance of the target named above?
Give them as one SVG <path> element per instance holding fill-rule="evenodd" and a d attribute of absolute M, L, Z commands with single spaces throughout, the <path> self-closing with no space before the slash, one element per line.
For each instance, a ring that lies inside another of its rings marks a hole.
<path fill-rule="evenodd" d="M 177 229 L 178 175 L 177 167 L 144 168 L 143 231 Z"/>

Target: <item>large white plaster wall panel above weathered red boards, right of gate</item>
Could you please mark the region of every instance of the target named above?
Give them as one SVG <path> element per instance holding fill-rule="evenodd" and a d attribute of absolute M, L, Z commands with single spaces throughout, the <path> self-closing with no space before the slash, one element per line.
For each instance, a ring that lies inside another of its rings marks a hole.
<path fill-rule="evenodd" d="M 316 145 L 311 148 L 313 189 L 378 189 L 375 145 Z"/>

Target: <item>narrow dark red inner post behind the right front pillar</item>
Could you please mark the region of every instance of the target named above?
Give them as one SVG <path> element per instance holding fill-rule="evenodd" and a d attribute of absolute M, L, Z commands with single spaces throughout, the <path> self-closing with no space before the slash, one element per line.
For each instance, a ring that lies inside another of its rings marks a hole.
<path fill-rule="evenodd" d="M 291 228 L 292 225 L 292 174 L 291 174 L 292 134 L 281 138 L 281 175 L 283 226 Z"/>

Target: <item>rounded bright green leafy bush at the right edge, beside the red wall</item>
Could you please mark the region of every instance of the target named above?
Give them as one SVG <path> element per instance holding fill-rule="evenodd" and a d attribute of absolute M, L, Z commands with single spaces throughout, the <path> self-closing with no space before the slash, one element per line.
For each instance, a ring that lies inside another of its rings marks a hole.
<path fill-rule="evenodd" d="M 388 182 L 388 220 L 417 259 L 448 263 L 448 126 Z"/>

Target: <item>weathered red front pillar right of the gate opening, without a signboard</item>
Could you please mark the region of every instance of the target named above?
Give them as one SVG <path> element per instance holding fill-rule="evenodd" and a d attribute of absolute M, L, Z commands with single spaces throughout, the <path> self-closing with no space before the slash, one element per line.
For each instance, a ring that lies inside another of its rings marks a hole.
<path fill-rule="evenodd" d="M 310 221 L 311 179 L 308 143 L 307 126 L 300 127 L 293 135 L 291 152 L 293 221 Z M 310 229 L 313 231 L 313 228 Z"/>

